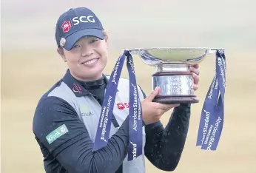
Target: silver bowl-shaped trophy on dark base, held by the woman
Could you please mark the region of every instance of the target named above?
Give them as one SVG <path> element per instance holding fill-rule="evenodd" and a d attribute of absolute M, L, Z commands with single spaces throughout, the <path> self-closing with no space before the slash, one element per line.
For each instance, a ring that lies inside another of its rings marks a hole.
<path fill-rule="evenodd" d="M 131 55 L 138 55 L 141 60 L 155 67 L 152 74 L 152 89 L 160 86 L 161 94 L 154 101 L 161 104 L 195 104 L 199 102 L 194 93 L 192 72 L 189 65 L 199 64 L 206 55 L 217 49 L 191 47 L 164 47 L 126 49 Z"/>

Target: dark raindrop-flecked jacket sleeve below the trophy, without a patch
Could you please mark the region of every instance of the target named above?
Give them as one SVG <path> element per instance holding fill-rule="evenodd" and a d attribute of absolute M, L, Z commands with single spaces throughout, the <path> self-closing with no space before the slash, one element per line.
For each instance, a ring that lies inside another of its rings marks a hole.
<path fill-rule="evenodd" d="M 190 104 L 175 107 L 166 128 L 161 121 L 145 126 L 147 159 L 158 169 L 174 171 L 178 166 L 189 128 Z"/>

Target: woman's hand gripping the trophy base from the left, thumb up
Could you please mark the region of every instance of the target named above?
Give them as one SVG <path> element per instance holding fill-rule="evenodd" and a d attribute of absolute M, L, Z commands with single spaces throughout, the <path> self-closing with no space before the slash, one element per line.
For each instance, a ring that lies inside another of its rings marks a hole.
<path fill-rule="evenodd" d="M 155 96 L 159 95 L 160 87 L 155 87 L 155 90 L 151 94 L 141 101 L 142 107 L 142 119 L 144 123 L 150 124 L 159 121 L 161 116 L 167 112 L 169 109 L 179 106 L 179 104 L 159 104 L 152 102 Z"/>

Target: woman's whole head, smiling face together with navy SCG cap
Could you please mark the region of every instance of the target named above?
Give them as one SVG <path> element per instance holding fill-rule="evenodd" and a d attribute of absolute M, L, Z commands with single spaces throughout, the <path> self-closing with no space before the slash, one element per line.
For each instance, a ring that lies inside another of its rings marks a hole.
<path fill-rule="evenodd" d="M 76 13 L 81 16 L 73 17 L 72 21 L 66 20 L 65 15 L 58 19 L 58 53 L 67 62 L 71 75 L 81 81 L 94 81 L 101 78 L 107 64 L 108 36 L 93 13 L 82 9 Z"/>

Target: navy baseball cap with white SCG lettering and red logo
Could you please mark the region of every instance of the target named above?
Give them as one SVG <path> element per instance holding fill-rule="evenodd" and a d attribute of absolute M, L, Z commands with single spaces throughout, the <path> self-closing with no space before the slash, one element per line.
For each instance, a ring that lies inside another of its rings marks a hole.
<path fill-rule="evenodd" d="M 86 7 L 70 8 L 63 13 L 55 27 L 55 39 L 58 47 L 71 50 L 80 38 L 90 35 L 104 39 L 101 21 Z"/>

